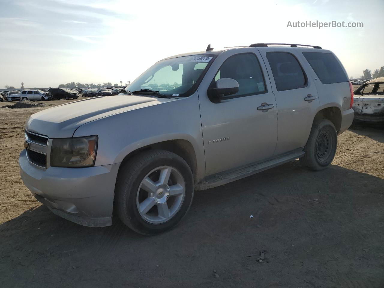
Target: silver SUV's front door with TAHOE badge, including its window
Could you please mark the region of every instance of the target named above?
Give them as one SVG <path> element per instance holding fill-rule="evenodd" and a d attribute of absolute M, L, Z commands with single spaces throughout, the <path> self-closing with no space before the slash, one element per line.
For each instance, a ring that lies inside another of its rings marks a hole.
<path fill-rule="evenodd" d="M 198 89 L 206 175 L 262 161 L 275 151 L 276 101 L 265 65 L 256 48 L 237 51 L 221 53 Z M 207 89 L 220 78 L 235 79 L 239 91 L 214 103 Z"/>

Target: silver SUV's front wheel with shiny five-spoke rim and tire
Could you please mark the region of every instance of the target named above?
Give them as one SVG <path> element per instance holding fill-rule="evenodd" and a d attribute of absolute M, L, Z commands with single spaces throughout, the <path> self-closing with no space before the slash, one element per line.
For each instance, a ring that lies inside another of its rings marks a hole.
<path fill-rule="evenodd" d="M 122 222 L 140 234 L 156 235 L 177 225 L 189 210 L 193 175 L 177 154 L 143 152 L 120 168 L 115 195 Z"/>

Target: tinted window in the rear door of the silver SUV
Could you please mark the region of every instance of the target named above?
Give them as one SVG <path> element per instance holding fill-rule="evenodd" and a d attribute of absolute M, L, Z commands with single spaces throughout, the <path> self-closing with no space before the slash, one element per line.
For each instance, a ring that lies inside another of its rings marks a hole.
<path fill-rule="evenodd" d="M 307 86 L 307 78 L 296 57 L 286 52 L 266 53 L 275 79 L 277 91 L 298 89 Z"/>

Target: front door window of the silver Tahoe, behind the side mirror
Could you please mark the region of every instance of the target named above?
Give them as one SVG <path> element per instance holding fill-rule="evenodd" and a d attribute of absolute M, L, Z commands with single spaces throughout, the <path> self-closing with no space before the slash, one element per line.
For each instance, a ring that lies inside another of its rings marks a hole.
<path fill-rule="evenodd" d="M 232 78 L 239 83 L 238 93 L 229 98 L 266 93 L 263 73 L 254 54 L 230 56 L 220 67 L 215 81 L 221 78 Z"/>

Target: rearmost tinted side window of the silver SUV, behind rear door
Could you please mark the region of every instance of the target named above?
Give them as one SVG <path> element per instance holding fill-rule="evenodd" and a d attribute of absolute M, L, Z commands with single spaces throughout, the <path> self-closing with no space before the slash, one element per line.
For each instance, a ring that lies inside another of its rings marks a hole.
<path fill-rule="evenodd" d="M 332 84 L 348 82 L 348 78 L 341 68 L 339 61 L 331 53 L 303 52 L 313 71 L 321 83 Z"/>

